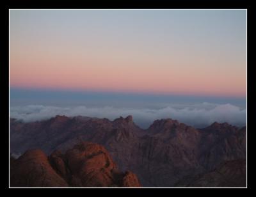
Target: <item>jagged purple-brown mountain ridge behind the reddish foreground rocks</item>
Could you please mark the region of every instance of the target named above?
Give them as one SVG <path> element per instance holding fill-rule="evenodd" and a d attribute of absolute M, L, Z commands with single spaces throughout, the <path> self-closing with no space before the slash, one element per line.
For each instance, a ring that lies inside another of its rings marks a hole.
<path fill-rule="evenodd" d="M 228 123 L 195 129 L 168 118 L 156 120 L 147 130 L 134 124 L 132 116 L 113 121 L 56 116 L 42 122 L 10 123 L 11 153 L 22 154 L 30 148 L 47 154 L 65 152 L 81 141 L 104 145 L 118 168 L 134 172 L 143 187 L 173 187 L 188 175 L 207 173 L 225 161 L 246 159 L 246 127 Z M 63 156 L 55 154 L 63 166 Z"/>

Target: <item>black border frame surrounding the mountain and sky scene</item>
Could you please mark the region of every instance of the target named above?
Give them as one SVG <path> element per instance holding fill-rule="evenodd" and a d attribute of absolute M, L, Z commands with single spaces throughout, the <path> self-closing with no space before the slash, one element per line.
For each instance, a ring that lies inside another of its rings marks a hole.
<path fill-rule="evenodd" d="M 247 0 L 173 0 L 173 1 L 167 1 L 167 0 L 159 0 L 159 1 L 152 1 L 152 0 L 130 0 L 130 1 L 82 1 L 82 0 L 73 0 L 73 1 L 8 1 L 1 5 L 1 14 L 3 15 L 1 17 L 3 26 L 2 29 L 2 37 L 1 37 L 1 86 L 2 86 L 2 93 L 1 93 L 1 114 L 3 115 L 1 118 L 1 130 L 2 130 L 2 136 L 4 134 L 4 138 L 2 138 L 1 145 L 2 149 L 4 150 L 4 158 L 2 162 L 4 162 L 4 187 L 10 191 L 9 187 L 9 9 L 96 9 L 96 8 L 115 8 L 115 9 L 128 9 L 128 8 L 157 8 L 157 9 L 163 9 L 163 8 L 172 8 L 172 9 L 247 9 L 247 130 L 249 130 L 247 134 L 248 139 L 248 169 L 251 170 L 252 164 L 252 157 L 249 157 L 249 154 L 252 154 L 252 150 L 250 150 L 250 146 L 252 145 L 253 138 L 253 132 L 255 132 L 255 129 L 252 129 L 253 122 L 255 122 L 255 98 L 253 98 L 253 92 L 255 93 L 256 88 L 253 86 L 253 80 L 255 79 L 254 74 L 256 72 L 253 72 L 253 66 L 256 65 L 254 60 L 254 52 L 253 48 L 255 46 L 255 29 L 254 26 L 256 24 L 256 12 L 254 10 L 254 7 L 252 6 L 252 3 Z M 253 118 L 254 116 L 254 118 Z M 250 178 L 252 178 L 251 171 L 248 170 L 248 189 L 252 187 L 252 182 L 250 181 Z M 32 189 L 34 190 L 34 189 Z M 113 189 L 111 189 L 113 191 Z M 155 190 L 155 189 L 154 189 Z M 56 189 L 55 189 L 56 191 Z M 64 190 L 70 191 L 69 189 Z M 73 193 L 74 190 L 71 190 Z M 92 189 L 91 189 L 92 191 Z M 106 189 L 100 189 L 100 191 L 106 191 Z M 120 191 L 116 189 L 115 191 Z M 134 189 L 126 189 L 127 194 L 129 192 L 134 191 Z M 137 190 L 138 191 L 138 190 Z M 142 189 L 140 191 L 145 192 L 145 189 Z M 150 193 L 152 193 L 152 189 L 147 189 Z M 156 190 L 155 190 L 156 191 Z M 159 191 L 159 190 L 158 190 Z M 158 193 L 157 191 L 157 193 Z M 180 190 L 179 190 L 180 191 Z M 191 190 L 189 190 L 191 191 Z M 51 190 L 52 192 L 52 190 Z M 93 189 L 93 193 L 95 192 L 95 189 Z M 238 191 L 236 190 L 236 193 Z M 244 192 L 244 190 L 242 191 Z M 87 191 L 86 191 L 87 193 Z M 53 193 L 52 193 L 53 194 Z M 71 193 L 70 193 L 71 194 Z M 105 193 L 106 194 L 106 193 Z M 238 194 L 238 193 L 237 193 Z"/>

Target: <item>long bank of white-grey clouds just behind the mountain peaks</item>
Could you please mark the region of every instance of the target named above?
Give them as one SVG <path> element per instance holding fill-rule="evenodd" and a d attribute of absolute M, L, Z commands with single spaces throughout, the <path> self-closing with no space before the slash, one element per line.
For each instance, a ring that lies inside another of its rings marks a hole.
<path fill-rule="evenodd" d="M 147 128 L 154 120 L 172 118 L 194 127 L 205 127 L 212 122 L 228 122 L 232 125 L 246 125 L 246 109 L 232 104 L 173 104 L 161 109 L 133 109 L 122 107 L 55 107 L 55 106 L 17 106 L 10 107 L 10 117 L 33 122 L 46 120 L 56 115 L 90 116 L 114 120 L 119 116 L 132 115 L 134 122 Z"/>

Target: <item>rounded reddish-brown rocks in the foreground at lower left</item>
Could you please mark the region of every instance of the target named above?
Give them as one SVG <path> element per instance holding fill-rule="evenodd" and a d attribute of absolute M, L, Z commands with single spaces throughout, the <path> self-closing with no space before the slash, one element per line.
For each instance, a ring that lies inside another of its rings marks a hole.
<path fill-rule="evenodd" d="M 29 150 L 12 161 L 11 187 L 140 187 L 131 171 L 122 173 L 107 150 L 82 142 L 65 154 Z"/>

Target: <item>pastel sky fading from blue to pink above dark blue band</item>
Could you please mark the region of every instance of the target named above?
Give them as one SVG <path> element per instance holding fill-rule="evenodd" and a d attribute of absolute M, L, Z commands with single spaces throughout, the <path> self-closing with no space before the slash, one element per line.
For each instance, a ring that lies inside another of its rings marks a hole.
<path fill-rule="evenodd" d="M 246 10 L 10 10 L 10 86 L 246 97 Z"/>

